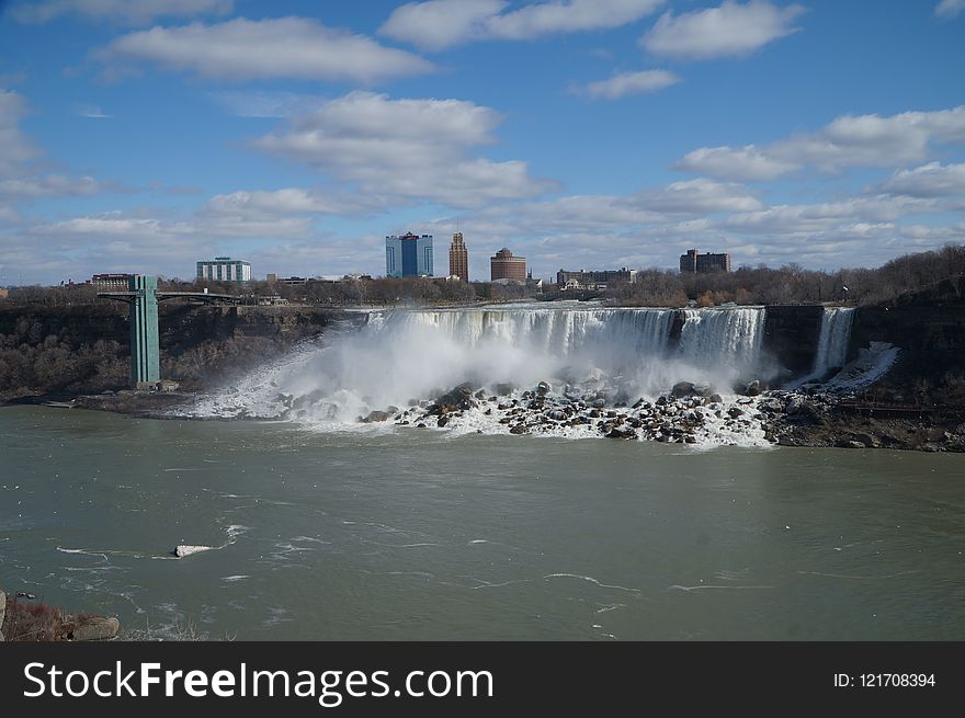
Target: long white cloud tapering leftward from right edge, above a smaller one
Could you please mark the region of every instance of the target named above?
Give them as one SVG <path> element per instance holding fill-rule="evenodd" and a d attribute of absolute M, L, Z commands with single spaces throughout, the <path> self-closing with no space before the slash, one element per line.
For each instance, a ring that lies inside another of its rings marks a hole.
<path fill-rule="evenodd" d="M 724 179 L 768 180 L 806 166 L 838 172 L 922 162 L 934 145 L 965 145 L 965 105 L 887 117 L 844 115 L 816 133 L 770 145 L 700 148 L 674 168 Z"/>

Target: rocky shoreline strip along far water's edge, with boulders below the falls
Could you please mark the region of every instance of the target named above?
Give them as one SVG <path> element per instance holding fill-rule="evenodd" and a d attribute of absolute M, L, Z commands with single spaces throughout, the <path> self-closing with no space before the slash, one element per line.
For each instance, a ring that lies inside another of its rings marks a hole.
<path fill-rule="evenodd" d="M 887 404 L 862 408 L 849 402 L 848 397 L 820 390 L 773 389 L 754 396 L 725 398 L 709 395 L 701 387 L 694 390 L 692 385 L 683 389 L 676 387 L 676 392 L 671 390 L 654 401 L 640 398 L 632 407 L 625 403 L 590 406 L 541 390 L 543 385 L 545 383 L 530 390 L 513 391 L 512 396 L 461 385 L 434 401 L 423 400 L 421 406 L 405 410 L 389 407 L 394 411 L 373 411 L 367 417 L 359 417 L 351 425 L 390 423 L 463 434 L 609 437 L 695 447 L 752 445 L 965 453 L 965 412 L 957 408 L 921 408 L 918 414 L 901 417 L 894 415 L 896 411 Z M 36 406 L 162 421 L 264 421 L 307 425 L 305 414 L 293 415 L 291 409 L 275 415 L 192 413 L 197 400 L 205 396 L 135 390 L 102 395 L 61 391 L 19 397 L 0 402 L 0 408 Z M 493 411 L 496 419 L 491 418 Z M 483 415 L 487 417 L 485 421 Z M 751 441 L 738 441 L 746 437 Z"/>

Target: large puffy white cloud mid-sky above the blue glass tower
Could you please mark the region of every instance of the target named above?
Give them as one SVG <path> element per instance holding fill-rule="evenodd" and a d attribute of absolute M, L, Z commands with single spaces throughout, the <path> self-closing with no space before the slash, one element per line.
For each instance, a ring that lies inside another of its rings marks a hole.
<path fill-rule="evenodd" d="M 501 117 L 459 100 L 389 100 L 352 92 L 256 140 L 362 192 L 470 207 L 523 198 L 556 184 L 530 178 L 526 163 L 470 159 L 496 140 Z"/>

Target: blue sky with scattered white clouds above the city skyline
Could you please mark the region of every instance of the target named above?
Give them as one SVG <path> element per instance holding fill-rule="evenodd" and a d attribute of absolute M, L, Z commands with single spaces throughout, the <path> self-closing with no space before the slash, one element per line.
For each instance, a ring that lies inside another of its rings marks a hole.
<path fill-rule="evenodd" d="M 965 241 L 965 0 L 0 0 L 0 286 Z"/>

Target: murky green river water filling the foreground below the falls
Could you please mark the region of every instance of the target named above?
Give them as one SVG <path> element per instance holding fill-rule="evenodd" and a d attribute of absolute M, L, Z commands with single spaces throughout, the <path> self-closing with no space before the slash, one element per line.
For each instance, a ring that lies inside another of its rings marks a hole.
<path fill-rule="evenodd" d="M 963 551 L 962 455 L 0 409 L 0 588 L 149 636 L 962 640 Z"/>

